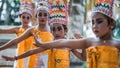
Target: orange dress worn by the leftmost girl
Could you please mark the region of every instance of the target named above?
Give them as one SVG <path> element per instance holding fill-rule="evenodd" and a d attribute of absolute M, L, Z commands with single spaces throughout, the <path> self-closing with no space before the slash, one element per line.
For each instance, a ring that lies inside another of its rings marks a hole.
<path fill-rule="evenodd" d="M 25 32 L 25 29 L 20 28 L 17 34 L 17 37 L 19 37 L 24 32 Z M 28 39 L 21 41 L 17 46 L 17 55 L 20 55 L 26 52 L 27 50 L 30 50 L 32 41 L 33 41 L 33 37 L 29 37 Z M 27 63 L 27 60 L 25 61 L 25 59 L 17 60 L 17 68 L 25 68 L 27 66 L 26 63 Z"/>

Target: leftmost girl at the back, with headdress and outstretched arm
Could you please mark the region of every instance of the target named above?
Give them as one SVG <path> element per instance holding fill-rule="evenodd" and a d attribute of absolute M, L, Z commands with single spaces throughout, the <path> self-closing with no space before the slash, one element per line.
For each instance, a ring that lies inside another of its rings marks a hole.
<path fill-rule="evenodd" d="M 19 10 L 19 18 L 21 21 L 22 26 L 21 27 L 14 27 L 10 29 L 0 29 L 0 33 L 4 34 L 16 34 L 17 37 L 19 37 L 23 32 L 25 32 L 26 29 L 28 29 L 29 22 L 31 21 L 32 18 L 32 8 L 31 8 L 31 3 L 29 2 L 22 2 Z M 22 54 L 23 52 L 27 51 L 30 49 L 30 45 L 32 38 L 28 38 L 18 44 L 17 47 L 17 55 Z M 9 47 L 6 47 L 9 48 Z M 1 49 L 2 50 L 2 49 Z M 17 61 L 17 68 L 23 68 L 25 64 L 25 60 L 21 59 Z"/>

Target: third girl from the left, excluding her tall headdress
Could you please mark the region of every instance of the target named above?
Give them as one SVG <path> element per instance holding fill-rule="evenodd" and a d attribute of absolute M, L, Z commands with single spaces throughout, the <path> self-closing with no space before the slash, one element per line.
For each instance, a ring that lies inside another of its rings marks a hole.
<path fill-rule="evenodd" d="M 57 18 L 58 19 L 58 18 Z M 56 20 L 57 20 L 56 19 Z M 65 38 L 65 35 L 67 33 L 67 26 L 65 24 L 60 23 L 61 21 L 57 21 L 57 23 L 52 23 L 51 25 L 51 31 L 53 33 L 54 39 L 63 39 Z M 30 51 L 27 51 L 26 53 L 17 56 L 17 60 L 36 54 L 36 53 L 40 53 L 41 51 L 44 51 L 43 48 L 36 48 Z M 54 61 L 51 63 L 54 63 L 54 68 L 69 68 L 69 62 L 70 62 L 70 49 L 68 48 L 62 48 L 62 49 L 52 49 L 52 58 L 54 58 Z M 78 54 L 77 52 L 74 52 Z M 7 60 L 16 60 L 14 57 L 8 58 Z"/>

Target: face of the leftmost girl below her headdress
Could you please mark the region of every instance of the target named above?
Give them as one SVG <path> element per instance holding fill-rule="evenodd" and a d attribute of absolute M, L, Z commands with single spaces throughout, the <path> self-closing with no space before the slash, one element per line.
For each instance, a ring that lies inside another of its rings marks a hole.
<path fill-rule="evenodd" d="M 28 26 L 29 22 L 31 21 L 31 15 L 28 13 L 23 13 L 20 16 L 20 20 L 21 20 L 22 25 Z"/>

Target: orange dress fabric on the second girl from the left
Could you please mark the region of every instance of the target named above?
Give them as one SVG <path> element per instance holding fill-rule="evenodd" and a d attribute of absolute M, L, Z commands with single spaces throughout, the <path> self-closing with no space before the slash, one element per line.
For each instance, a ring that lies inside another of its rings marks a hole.
<path fill-rule="evenodd" d="M 52 41 L 53 40 L 53 35 L 50 32 L 41 32 L 37 29 L 34 29 L 33 31 L 34 34 L 38 34 L 39 38 L 41 38 L 42 42 L 48 42 L 48 41 Z M 34 45 L 32 46 L 32 49 L 36 48 Z M 40 63 L 41 61 L 39 61 L 39 57 L 41 57 L 42 55 L 47 55 L 48 57 L 46 57 L 46 59 L 48 59 L 48 61 L 46 62 L 47 64 L 47 68 L 54 68 L 52 64 L 52 52 L 51 49 L 46 50 L 44 52 L 41 52 L 39 54 L 35 54 L 30 56 L 29 58 L 29 64 L 28 64 L 28 68 L 40 68 L 38 66 L 41 66 Z"/>

